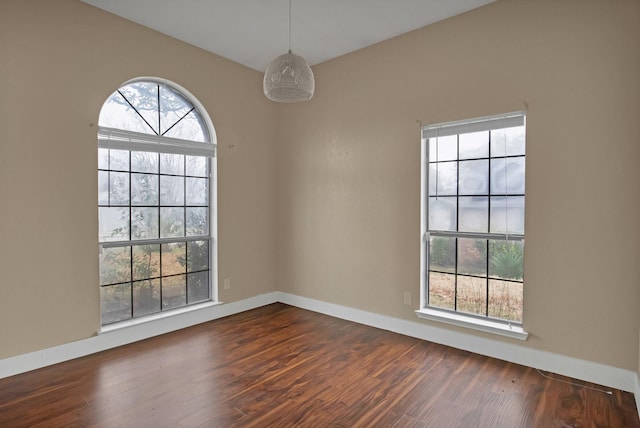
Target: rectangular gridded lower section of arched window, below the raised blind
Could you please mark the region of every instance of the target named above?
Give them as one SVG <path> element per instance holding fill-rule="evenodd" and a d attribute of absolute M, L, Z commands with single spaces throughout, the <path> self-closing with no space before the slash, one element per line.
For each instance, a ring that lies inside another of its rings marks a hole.
<path fill-rule="evenodd" d="M 210 300 L 210 159 L 98 156 L 102 324 Z"/>

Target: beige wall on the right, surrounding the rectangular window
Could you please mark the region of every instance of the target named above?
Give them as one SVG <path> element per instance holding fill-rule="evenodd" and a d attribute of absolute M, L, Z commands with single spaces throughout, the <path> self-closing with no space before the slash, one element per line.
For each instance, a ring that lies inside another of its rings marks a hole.
<path fill-rule="evenodd" d="M 638 22 L 633 0 L 499 1 L 314 67 L 283 109 L 279 287 L 417 321 L 416 120 L 528 109 L 524 345 L 635 370 Z"/>

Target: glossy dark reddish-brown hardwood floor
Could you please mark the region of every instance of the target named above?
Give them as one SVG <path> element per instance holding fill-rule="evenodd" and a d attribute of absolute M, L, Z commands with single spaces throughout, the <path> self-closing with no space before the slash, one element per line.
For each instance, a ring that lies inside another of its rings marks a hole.
<path fill-rule="evenodd" d="M 634 397 L 273 304 L 0 380 L 0 427 L 640 427 Z"/>

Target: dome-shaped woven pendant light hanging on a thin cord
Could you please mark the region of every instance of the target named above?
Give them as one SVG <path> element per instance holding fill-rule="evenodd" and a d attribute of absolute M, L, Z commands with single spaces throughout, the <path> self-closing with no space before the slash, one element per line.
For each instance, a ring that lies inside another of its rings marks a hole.
<path fill-rule="evenodd" d="M 289 0 L 289 52 L 274 59 L 264 73 L 264 94 L 271 101 L 308 101 L 315 90 L 313 71 L 301 56 L 291 52 L 291 0 Z"/>

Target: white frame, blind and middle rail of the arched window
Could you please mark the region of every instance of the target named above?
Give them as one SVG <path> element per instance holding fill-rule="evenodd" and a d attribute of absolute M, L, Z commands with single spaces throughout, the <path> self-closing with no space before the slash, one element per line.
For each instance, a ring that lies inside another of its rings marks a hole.
<path fill-rule="evenodd" d="M 101 332 L 110 331 L 130 325 L 140 324 L 152 321 L 166 316 L 172 316 L 192 310 L 197 310 L 206 306 L 219 304 L 218 298 L 218 239 L 217 239 L 217 137 L 215 128 L 211 118 L 207 114 L 204 106 L 193 96 L 188 90 L 166 79 L 157 77 L 139 77 L 124 82 L 119 86 L 118 90 L 126 85 L 135 82 L 148 82 L 158 84 L 169 88 L 170 90 L 183 96 L 190 102 L 195 111 L 202 120 L 203 127 L 208 134 L 209 141 L 198 142 L 191 140 L 183 140 L 179 138 L 171 138 L 166 136 L 156 136 L 153 134 L 145 134 L 124 129 L 116 129 L 105 126 L 98 127 L 98 148 L 127 150 L 127 151 L 146 151 L 150 153 L 169 153 L 183 154 L 187 156 L 203 156 L 208 159 L 208 182 L 209 182 L 209 296 L 210 299 L 195 304 L 186 304 L 172 309 L 161 310 L 149 315 L 139 317 L 130 317 L 125 320 L 116 321 L 101 326 Z M 109 241 L 99 242 L 99 251 L 103 248 L 114 248 L 126 245 L 145 245 L 145 244 L 161 244 L 171 242 L 185 242 L 193 240 L 190 237 L 178 238 L 158 238 L 158 239 L 137 239 L 127 241 Z"/>

